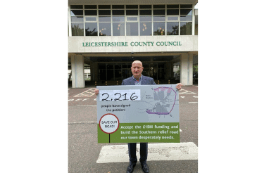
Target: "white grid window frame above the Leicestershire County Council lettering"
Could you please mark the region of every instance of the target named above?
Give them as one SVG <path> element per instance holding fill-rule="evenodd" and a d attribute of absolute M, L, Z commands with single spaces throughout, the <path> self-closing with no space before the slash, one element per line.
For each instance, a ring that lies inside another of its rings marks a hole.
<path fill-rule="evenodd" d="M 115 5 L 120 5 L 119 8 L 113 8 L 114 4 L 113 5 L 106 5 L 106 6 L 110 6 L 110 8 L 99 8 L 99 6 L 104 6 L 103 4 L 97 4 L 97 5 L 92 5 L 92 7 L 87 7 L 85 8 L 85 6 L 87 5 L 81 5 L 82 8 L 71 8 L 71 6 L 75 6 L 75 5 L 70 5 L 69 8 L 68 8 L 68 17 L 69 17 L 69 23 L 70 23 L 70 30 L 69 30 L 69 35 L 70 37 L 75 37 L 73 36 L 72 34 L 72 24 L 73 23 L 82 23 L 83 24 L 83 28 L 84 28 L 84 33 L 83 33 L 83 36 L 84 37 L 89 37 L 89 36 L 86 36 L 86 32 L 85 32 L 85 28 L 86 28 L 86 23 L 97 23 L 97 31 L 98 31 L 98 34 L 97 36 L 99 37 L 100 33 L 99 33 L 99 25 L 100 23 L 111 23 L 111 37 L 113 37 L 113 23 L 125 23 L 125 34 L 123 36 L 127 36 L 127 23 L 138 23 L 138 36 L 140 36 L 140 23 L 151 23 L 151 36 L 161 36 L 161 35 L 154 35 L 153 32 L 154 32 L 154 23 L 165 23 L 165 34 L 162 35 L 162 36 L 167 36 L 167 31 L 168 31 L 168 23 L 169 22 L 175 22 L 177 23 L 178 22 L 178 35 L 181 35 L 180 34 L 180 24 L 181 23 L 192 23 L 192 27 L 194 25 L 194 5 L 193 4 L 138 4 L 137 5 L 137 8 L 127 8 L 127 6 L 132 6 L 133 4 L 115 4 Z M 135 4 L 136 5 L 136 4 Z M 156 5 L 162 5 L 161 7 L 162 8 L 155 8 L 154 6 Z M 171 5 L 173 5 L 172 7 L 170 7 Z M 96 8 L 95 8 L 96 6 Z M 146 6 L 146 7 L 142 7 L 140 8 L 140 6 Z M 148 7 L 151 7 L 151 8 L 148 8 Z M 169 7 L 168 7 L 169 6 Z M 178 8 L 176 7 L 178 6 Z M 123 8 L 122 8 L 123 7 Z M 164 7 L 164 8 L 163 8 Z M 168 15 L 168 10 L 177 10 L 178 9 L 178 15 Z M 182 15 L 180 12 L 181 10 L 191 10 L 192 13 L 191 14 L 187 14 L 187 15 Z M 73 10 L 79 10 L 79 11 L 82 11 L 82 15 L 71 15 L 71 11 Z M 96 15 L 85 15 L 85 11 L 95 11 L 96 10 Z M 109 10 L 111 15 L 99 15 L 99 11 L 101 10 Z M 116 11 L 116 10 L 123 10 L 124 11 L 124 15 L 113 15 L 113 10 Z M 127 15 L 127 10 L 137 10 L 138 11 L 138 15 Z M 140 11 L 141 10 L 150 10 L 151 11 L 151 15 L 140 15 Z M 154 10 L 165 10 L 165 15 L 154 15 L 153 14 L 153 11 Z M 185 20 L 185 21 L 182 21 L 181 18 L 182 17 L 186 17 L 186 16 L 191 16 L 191 20 Z M 72 17 L 82 17 L 83 18 L 83 21 L 82 22 L 72 22 Z M 110 22 L 99 22 L 99 18 L 100 17 L 110 17 L 111 18 L 111 21 Z M 113 22 L 113 17 L 125 17 L 125 21 L 120 21 L 120 22 Z M 137 20 L 127 20 L 127 18 L 129 17 L 135 17 L 137 18 Z M 151 22 L 150 21 L 146 21 L 146 22 L 140 22 L 140 18 L 141 17 L 151 17 Z M 154 21 L 153 18 L 154 17 L 165 17 L 165 21 Z M 177 20 L 168 20 L 168 18 L 170 17 L 177 17 Z M 96 18 L 95 21 L 87 21 L 87 18 Z M 192 29 L 192 34 L 194 33 L 193 29 Z M 118 37 L 118 36 L 115 36 L 115 37 Z"/>

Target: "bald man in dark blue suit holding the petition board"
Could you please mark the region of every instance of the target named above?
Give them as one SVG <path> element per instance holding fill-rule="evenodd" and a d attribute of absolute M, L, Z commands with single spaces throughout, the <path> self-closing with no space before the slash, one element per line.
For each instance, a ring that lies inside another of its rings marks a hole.
<path fill-rule="evenodd" d="M 146 77 L 142 75 L 143 72 L 142 62 L 139 60 L 134 60 L 132 63 L 131 71 L 132 77 L 124 79 L 122 85 L 150 85 L 156 84 L 153 81 L 153 78 Z M 176 88 L 181 89 L 182 84 L 178 83 Z M 95 94 L 99 94 L 99 89 L 95 89 Z M 131 173 L 134 170 L 134 167 L 137 163 L 136 156 L 136 146 L 137 143 L 127 143 L 128 144 L 128 153 L 130 156 L 130 165 L 127 167 L 127 173 Z M 140 143 L 140 163 L 142 165 L 142 169 L 145 173 L 149 172 L 149 166 L 146 164 L 146 159 L 148 157 L 148 143 Z"/>

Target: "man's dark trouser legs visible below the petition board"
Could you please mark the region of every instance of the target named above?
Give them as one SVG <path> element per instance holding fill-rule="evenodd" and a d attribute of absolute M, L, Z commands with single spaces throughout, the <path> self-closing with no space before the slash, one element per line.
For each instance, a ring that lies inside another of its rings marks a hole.
<path fill-rule="evenodd" d="M 137 163 L 136 146 L 137 143 L 128 144 L 128 155 L 130 156 L 130 163 Z M 148 143 L 140 143 L 140 162 L 146 163 L 148 158 Z"/>

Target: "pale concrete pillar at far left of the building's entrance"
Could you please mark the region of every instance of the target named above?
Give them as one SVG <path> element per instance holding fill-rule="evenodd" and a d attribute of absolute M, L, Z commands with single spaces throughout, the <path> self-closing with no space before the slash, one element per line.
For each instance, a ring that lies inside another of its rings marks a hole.
<path fill-rule="evenodd" d="M 84 58 L 83 56 L 71 56 L 72 88 L 84 88 Z"/>

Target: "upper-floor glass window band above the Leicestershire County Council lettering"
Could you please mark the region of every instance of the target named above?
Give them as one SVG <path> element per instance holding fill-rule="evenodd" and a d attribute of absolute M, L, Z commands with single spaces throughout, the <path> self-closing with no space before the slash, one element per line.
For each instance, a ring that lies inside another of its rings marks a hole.
<path fill-rule="evenodd" d="M 72 36 L 192 35 L 192 15 L 192 4 L 70 5 L 71 34 Z"/>

